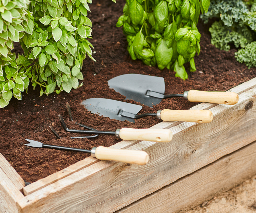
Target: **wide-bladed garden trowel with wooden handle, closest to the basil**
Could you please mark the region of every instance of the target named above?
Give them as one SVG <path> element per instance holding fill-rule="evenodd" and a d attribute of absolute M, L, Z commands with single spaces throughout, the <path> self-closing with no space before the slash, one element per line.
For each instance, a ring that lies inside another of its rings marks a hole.
<path fill-rule="evenodd" d="M 190 102 L 208 102 L 217 104 L 236 104 L 238 94 L 234 92 L 205 92 L 198 90 L 185 91 L 183 94 L 164 95 L 164 78 L 125 74 L 114 77 L 108 81 L 109 87 L 116 92 L 149 107 L 159 104 L 162 99 L 181 97 Z"/>

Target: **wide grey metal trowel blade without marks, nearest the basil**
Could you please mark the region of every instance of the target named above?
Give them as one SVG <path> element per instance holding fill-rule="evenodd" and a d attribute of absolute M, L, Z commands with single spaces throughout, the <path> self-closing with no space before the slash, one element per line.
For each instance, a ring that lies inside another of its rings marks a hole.
<path fill-rule="evenodd" d="M 164 95 L 164 78 L 140 75 L 140 74 L 125 74 L 114 77 L 108 81 L 109 87 L 116 92 L 126 96 L 126 99 L 131 99 L 149 107 L 159 104 L 162 98 L 148 96 L 147 91 L 152 91 Z"/>

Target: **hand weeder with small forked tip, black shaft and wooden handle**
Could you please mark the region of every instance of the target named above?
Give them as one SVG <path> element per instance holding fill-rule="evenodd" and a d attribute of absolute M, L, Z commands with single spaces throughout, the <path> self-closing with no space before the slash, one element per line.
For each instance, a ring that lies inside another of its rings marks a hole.
<path fill-rule="evenodd" d="M 25 139 L 29 143 L 26 146 L 36 147 L 36 148 L 48 148 L 48 149 L 59 149 L 66 151 L 78 151 L 91 154 L 91 156 L 96 157 L 99 160 L 116 160 L 129 164 L 144 165 L 148 162 L 148 154 L 145 151 L 139 150 L 127 150 L 127 149 L 111 149 L 103 146 L 93 147 L 89 149 L 77 149 L 71 147 L 55 146 L 44 144 L 39 141 Z"/>

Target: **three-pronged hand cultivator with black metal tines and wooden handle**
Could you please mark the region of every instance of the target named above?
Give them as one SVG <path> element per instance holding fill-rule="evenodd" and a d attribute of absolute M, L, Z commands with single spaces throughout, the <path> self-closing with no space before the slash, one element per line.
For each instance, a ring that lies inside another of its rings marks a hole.
<path fill-rule="evenodd" d="M 155 142 L 169 142 L 172 139 L 172 132 L 169 129 L 132 129 L 122 128 L 115 132 L 98 131 L 98 130 L 79 130 L 69 129 L 61 115 L 58 115 L 59 121 L 66 132 L 85 133 L 85 134 L 103 134 L 115 135 L 117 138 L 123 140 L 146 140 Z"/>

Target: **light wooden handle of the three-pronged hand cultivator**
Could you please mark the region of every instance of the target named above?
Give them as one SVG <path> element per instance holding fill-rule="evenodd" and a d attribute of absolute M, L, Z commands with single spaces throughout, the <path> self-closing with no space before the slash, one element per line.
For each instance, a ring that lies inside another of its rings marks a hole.
<path fill-rule="evenodd" d="M 169 129 L 120 129 L 119 137 L 123 140 L 146 140 L 155 142 L 169 142 L 172 132 Z"/>

